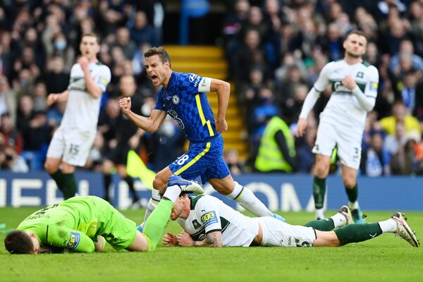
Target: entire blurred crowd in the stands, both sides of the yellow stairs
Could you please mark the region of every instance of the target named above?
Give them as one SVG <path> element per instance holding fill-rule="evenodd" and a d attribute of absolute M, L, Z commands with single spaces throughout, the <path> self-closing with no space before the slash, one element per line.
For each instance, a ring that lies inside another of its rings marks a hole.
<path fill-rule="evenodd" d="M 99 61 L 112 78 L 102 99 L 99 127 L 85 169 L 101 171 L 118 143 L 120 80 L 135 78 L 134 97 L 148 116 L 155 104 L 143 68 L 143 51 L 163 42 L 159 0 L 15 0 L 0 4 L 0 166 L 42 170 L 52 132 L 65 104 L 47 106 L 47 95 L 66 90 L 85 32 L 102 37 Z M 244 111 L 250 160 L 226 152 L 237 173 L 252 170 L 255 148 L 273 116 L 293 132 L 302 103 L 325 63 L 343 58 L 343 37 L 360 29 L 369 39 L 364 59 L 379 70 L 379 94 L 362 142 L 362 174 L 423 173 L 423 0 L 228 0 L 221 30 L 228 81 Z M 216 25 L 217 26 L 217 25 Z M 217 28 L 217 27 L 216 27 Z M 312 173 L 311 152 L 327 89 L 309 115 L 307 133 L 295 140 L 296 172 Z M 171 119 L 134 149 L 159 171 L 183 152 Z M 169 152 L 172 148 L 172 152 Z M 176 148 L 176 149 L 175 149 Z M 336 160 L 334 161 L 336 172 Z M 236 173 L 234 173 L 236 174 Z"/>

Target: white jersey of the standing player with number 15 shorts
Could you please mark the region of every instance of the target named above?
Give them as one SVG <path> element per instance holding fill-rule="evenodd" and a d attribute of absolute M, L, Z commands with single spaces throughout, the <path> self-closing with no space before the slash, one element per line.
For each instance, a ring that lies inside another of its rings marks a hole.
<path fill-rule="evenodd" d="M 111 80 L 109 67 L 102 63 L 90 63 L 88 68 L 90 68 L 90 73 L 96 84 L 103 92 L 106 91 L 106 87 Z M 87 92 L 84 72 L 79 63 L 72 66 L 68 90 L 68 102 L 61 126 L 78 128 L 83 131 L 95 130 L 102 96 L 94 98 Z"/>

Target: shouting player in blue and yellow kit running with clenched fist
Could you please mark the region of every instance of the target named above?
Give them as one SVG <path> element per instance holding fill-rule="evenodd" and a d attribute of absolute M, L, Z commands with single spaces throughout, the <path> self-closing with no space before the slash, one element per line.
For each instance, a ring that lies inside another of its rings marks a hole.
<path fill-rule="evenodd" d="M 228 129 L 225 116 L 231 85 L 223 80 L 172 71 L 171 58 L 163 47 L 152 47 L 144 56 L 149 78 L 154 86 L 162 86 L 157 94 L 157 104 L 152 114 L 144 117 L 130 110 L 130 98 L 125 97 L 119 100 L 123 114 L 149 133 L 156 132 L 169 114 L 185 131 L 190 141 L 188 152 L 159 171 L 154 178 L 153 197 L 147 205 L 146 218 L 159 200 L 157 190 L 172 174 L 190 180 L 201 176 L 203 183 L 209 181 L 216 191 L 236 200 L 253 214 L 278 216 L 270 212 L 252 191 L 233 180 L 223 159 L 221 133 Z M 217 94 L 219 109 L 216 121 L 206 92 Z M 278 217 L 284 220 L 281 216 Z"/>

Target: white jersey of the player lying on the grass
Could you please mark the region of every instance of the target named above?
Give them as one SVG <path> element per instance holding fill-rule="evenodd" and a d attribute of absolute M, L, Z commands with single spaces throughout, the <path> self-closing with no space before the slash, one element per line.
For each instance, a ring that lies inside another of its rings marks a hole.
<path fill-rule="evenodd" d="M 221 231 L 223 246 L 248 247 L 259 233 L 257 219 L 235 211 L 216 197 L 199 195 L 190 199 L 190 215 L 177 220 L 193 240 L 204 240 L 207 233 Z"/>

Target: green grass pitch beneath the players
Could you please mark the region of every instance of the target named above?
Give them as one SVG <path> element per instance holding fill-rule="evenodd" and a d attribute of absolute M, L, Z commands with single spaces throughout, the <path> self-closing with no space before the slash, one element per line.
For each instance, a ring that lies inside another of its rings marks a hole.
<path fill-rule="evenodd" d="M 37 208 L 0 209 L 0 223 L 15 228 Z M 334 211 L 333 211 L 334 212 Z M 393 212 L 367 212 L 367 221 L 387 219 Z M 123 211 L 139 223 L 144 211 Z M 326 212 L 329 216 L 330 212 Z M 408 223 L 423 238 L 423 213 L 406 212 Z M 307 212 L 283 216 L 293 224 L 313 218 Z M 170 222 L 166 231 L 178 233 Z M 164 247 L 156 252 L 9 255 L 0 233 L 0 281 L 423 281 L 423 247 L 383 234 L 344 247 Z M 423 240 L 423 239 L 422 239 Z"/>

